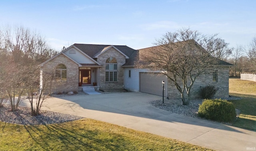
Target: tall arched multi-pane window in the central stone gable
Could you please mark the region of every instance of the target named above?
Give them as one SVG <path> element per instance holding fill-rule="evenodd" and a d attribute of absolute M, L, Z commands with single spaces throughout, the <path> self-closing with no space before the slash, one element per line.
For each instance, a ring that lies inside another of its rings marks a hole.
<path fill-rule="evenodd" d="M 106 60 L 106 81 L 117 81 L 117 61 L 116 58 L 110 57 Z"/>

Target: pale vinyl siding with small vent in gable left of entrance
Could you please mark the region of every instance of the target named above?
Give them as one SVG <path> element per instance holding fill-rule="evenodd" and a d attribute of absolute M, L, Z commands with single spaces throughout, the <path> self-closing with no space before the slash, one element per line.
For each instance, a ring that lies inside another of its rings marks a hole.
<path fill-rule="evenodd" d="M 70 51 L 75 52 L 75 54 L 70 54 Z M 90 58 L 82 54 L 80 51 L 75 48 L 70 48 L 64 52 L 67 56 L 78 62 L 79 64 L 95 64 Z"/>

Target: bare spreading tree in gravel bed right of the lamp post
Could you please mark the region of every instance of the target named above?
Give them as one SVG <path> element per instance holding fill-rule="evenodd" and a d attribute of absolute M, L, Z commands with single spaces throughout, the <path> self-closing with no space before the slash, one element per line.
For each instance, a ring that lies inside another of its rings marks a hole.
<path fill-rule="evenodd" d="M 167 32 L 156 40 L 155 47 L 140 51 L 137 66 L 166 74 L 180 92 L 183 105 L 188 105 L 190 90 L 196 78 L 208 74 L 211 67 L 216 65 L 217 59 L 201 46 L 214 48 L 212 45 L 215 43 L 206 42 L 214 42 L 215 36 L 204 36 L 190 29 Z"/>

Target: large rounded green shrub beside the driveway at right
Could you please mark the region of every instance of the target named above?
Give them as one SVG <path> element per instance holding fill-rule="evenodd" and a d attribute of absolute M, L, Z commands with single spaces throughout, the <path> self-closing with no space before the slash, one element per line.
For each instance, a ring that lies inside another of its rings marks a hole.
<path fill-rule="evenodd" d="M 220 122 L 230 122 L 236 117 L 234 104 L 222 99 L 204 99 L 198 116 Z"/>

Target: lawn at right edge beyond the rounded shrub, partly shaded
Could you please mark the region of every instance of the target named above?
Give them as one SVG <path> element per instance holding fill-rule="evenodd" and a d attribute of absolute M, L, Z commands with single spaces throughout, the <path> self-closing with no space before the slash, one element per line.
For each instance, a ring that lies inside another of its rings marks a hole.
<path fill-rule="evenodd" d="M 240 109 L 240 115 L 233 126 L 256 131 L 256 82 L 240 79 L 230 79 L 230 95 L 242 97 L 232 100 Z"/>

